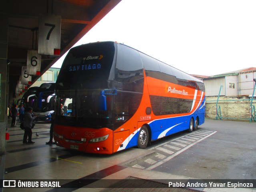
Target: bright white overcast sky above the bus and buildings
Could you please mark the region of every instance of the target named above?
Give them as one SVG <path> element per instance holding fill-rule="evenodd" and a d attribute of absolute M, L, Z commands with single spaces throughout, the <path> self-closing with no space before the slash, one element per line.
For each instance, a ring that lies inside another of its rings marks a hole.
<path fill-rule="evenodd" d="M 255 0 L 122 0 L 75 46 L 116 41 L 188 74 L 232 72 L 256 67 L 255 9 Z"/>

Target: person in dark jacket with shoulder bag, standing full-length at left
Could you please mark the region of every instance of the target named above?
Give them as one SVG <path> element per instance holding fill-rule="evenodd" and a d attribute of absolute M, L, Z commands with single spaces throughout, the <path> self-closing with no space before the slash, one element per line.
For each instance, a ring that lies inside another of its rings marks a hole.
<path fill-rule="evenodd" d="M 23 143 L 24 144 L 34 144 L 35 142 L 32 142 L 32 126 L 33 126 L 33 121 L 35 120 L 36 116 L 32 117 L 32 107 L 28 107 L 27 110 L 25 111 L 24 114 L 24 136 L 23 136 Z M 28 138 L 28 141 L 27 141 Z"/>

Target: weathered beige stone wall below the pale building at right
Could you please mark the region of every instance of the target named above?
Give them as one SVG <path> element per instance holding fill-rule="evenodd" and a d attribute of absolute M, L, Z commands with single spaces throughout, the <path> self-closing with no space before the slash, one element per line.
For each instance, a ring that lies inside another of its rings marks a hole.
<path fill-rule="evenodd" d="M 216 102 L 218 96 L 206 97 L 206 118 L 216 118 Z M 222 119 L 250 120 L 250 100 L 248 96 L 220 96 L 218 106 L 220 106 Z M 252 105 L 256 106 L 254 100 Z M 219 118 L 218 118 L 219 119 Z"/>

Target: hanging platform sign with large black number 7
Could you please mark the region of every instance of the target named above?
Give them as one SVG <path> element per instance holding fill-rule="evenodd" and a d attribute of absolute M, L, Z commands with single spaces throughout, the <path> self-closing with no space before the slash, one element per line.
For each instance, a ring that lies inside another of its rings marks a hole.
<path fill-rule="evenodd" d="M 61 16 L 39 15 L 38 54 L 60 55 Z"/>

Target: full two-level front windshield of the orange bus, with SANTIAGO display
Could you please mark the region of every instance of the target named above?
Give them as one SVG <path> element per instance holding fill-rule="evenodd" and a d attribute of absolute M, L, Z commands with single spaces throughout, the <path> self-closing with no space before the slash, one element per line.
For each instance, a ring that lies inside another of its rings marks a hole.
<path fill-rule="evenodd" d="M 56 81 L 56 120 L 59 125 L 113 129 L 112 97 L 101 91 L 114 88 L 113 42 L 72 48 Z M 101 106 L 105 98 L 106 108 Z M 60 114 L 63 105 L 64 116 Z M 57 107 L 58 106 L 58 107 Z"/>

